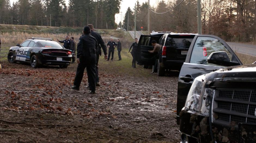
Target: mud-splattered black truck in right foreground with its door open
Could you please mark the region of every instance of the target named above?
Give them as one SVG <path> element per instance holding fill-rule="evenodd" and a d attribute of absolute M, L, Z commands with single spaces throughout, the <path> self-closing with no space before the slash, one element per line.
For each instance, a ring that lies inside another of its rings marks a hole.
<path fill-rule="evenodd" d="M 219 37 L 196 35 L 179 74 L 181 143 L 256 142 L 255 83 L 256 64 L 242 65 Z"/>

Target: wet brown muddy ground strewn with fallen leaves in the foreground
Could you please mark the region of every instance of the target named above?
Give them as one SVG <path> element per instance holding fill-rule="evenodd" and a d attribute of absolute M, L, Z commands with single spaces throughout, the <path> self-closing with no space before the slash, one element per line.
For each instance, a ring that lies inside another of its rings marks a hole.
<path fill-rule="evenodd" d="M 126 72 L 149 76 L 127 76 L 103 66 L 118 61 L 100 62 L 101 86 L 90 95 L 86 73 L 80 91 L 70 88 L 77 64 L 33 69 L 2 61 L 0 142 L 178 142 L 178 73 L 157 77 L 138 66 Z"/>

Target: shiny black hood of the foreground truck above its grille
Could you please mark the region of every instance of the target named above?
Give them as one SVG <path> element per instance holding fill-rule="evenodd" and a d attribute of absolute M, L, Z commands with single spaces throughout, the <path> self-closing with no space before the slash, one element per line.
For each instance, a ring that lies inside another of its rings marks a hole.
<path fill-rule="evenodd" d="M 256 82 L 256 64 L 231 66 L 206 74 L 207 81 Z"/>

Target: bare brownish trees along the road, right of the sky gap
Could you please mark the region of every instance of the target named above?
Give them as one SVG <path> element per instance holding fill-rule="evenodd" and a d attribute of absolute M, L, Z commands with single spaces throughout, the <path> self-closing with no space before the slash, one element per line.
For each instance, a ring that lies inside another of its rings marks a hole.
<path fill-rule="evenodd" d="M 150 7 L 157 13 L 166 12 L 182 0 L 159 1 Z M 201 0 L 202 34 L 217 35 L 227 41 L 256 42 L 255 0 Z M 124 28 L 134 28 L 134 8 L 127 9 Z M 148 3 L 136 2 L 136 30 L 147 30 Z M 185 0 L 172 11 L 156 14 L 150 11 L 150 31 L 197 33 L 197 1 Z"/>

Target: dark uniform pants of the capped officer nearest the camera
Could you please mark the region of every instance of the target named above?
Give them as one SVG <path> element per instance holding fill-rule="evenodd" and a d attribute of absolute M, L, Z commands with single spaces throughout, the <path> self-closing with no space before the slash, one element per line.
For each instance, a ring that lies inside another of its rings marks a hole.
<path fill-rule="evenodd" d="M 81 56 L 80 63 L 77 66 L 74 85 L 79 87 L 84 75 L 84 69 L 87 70 L 88 82 L 90 90 L 96 90 L 96 54 L 91 53 L 91 56 Z"/>

